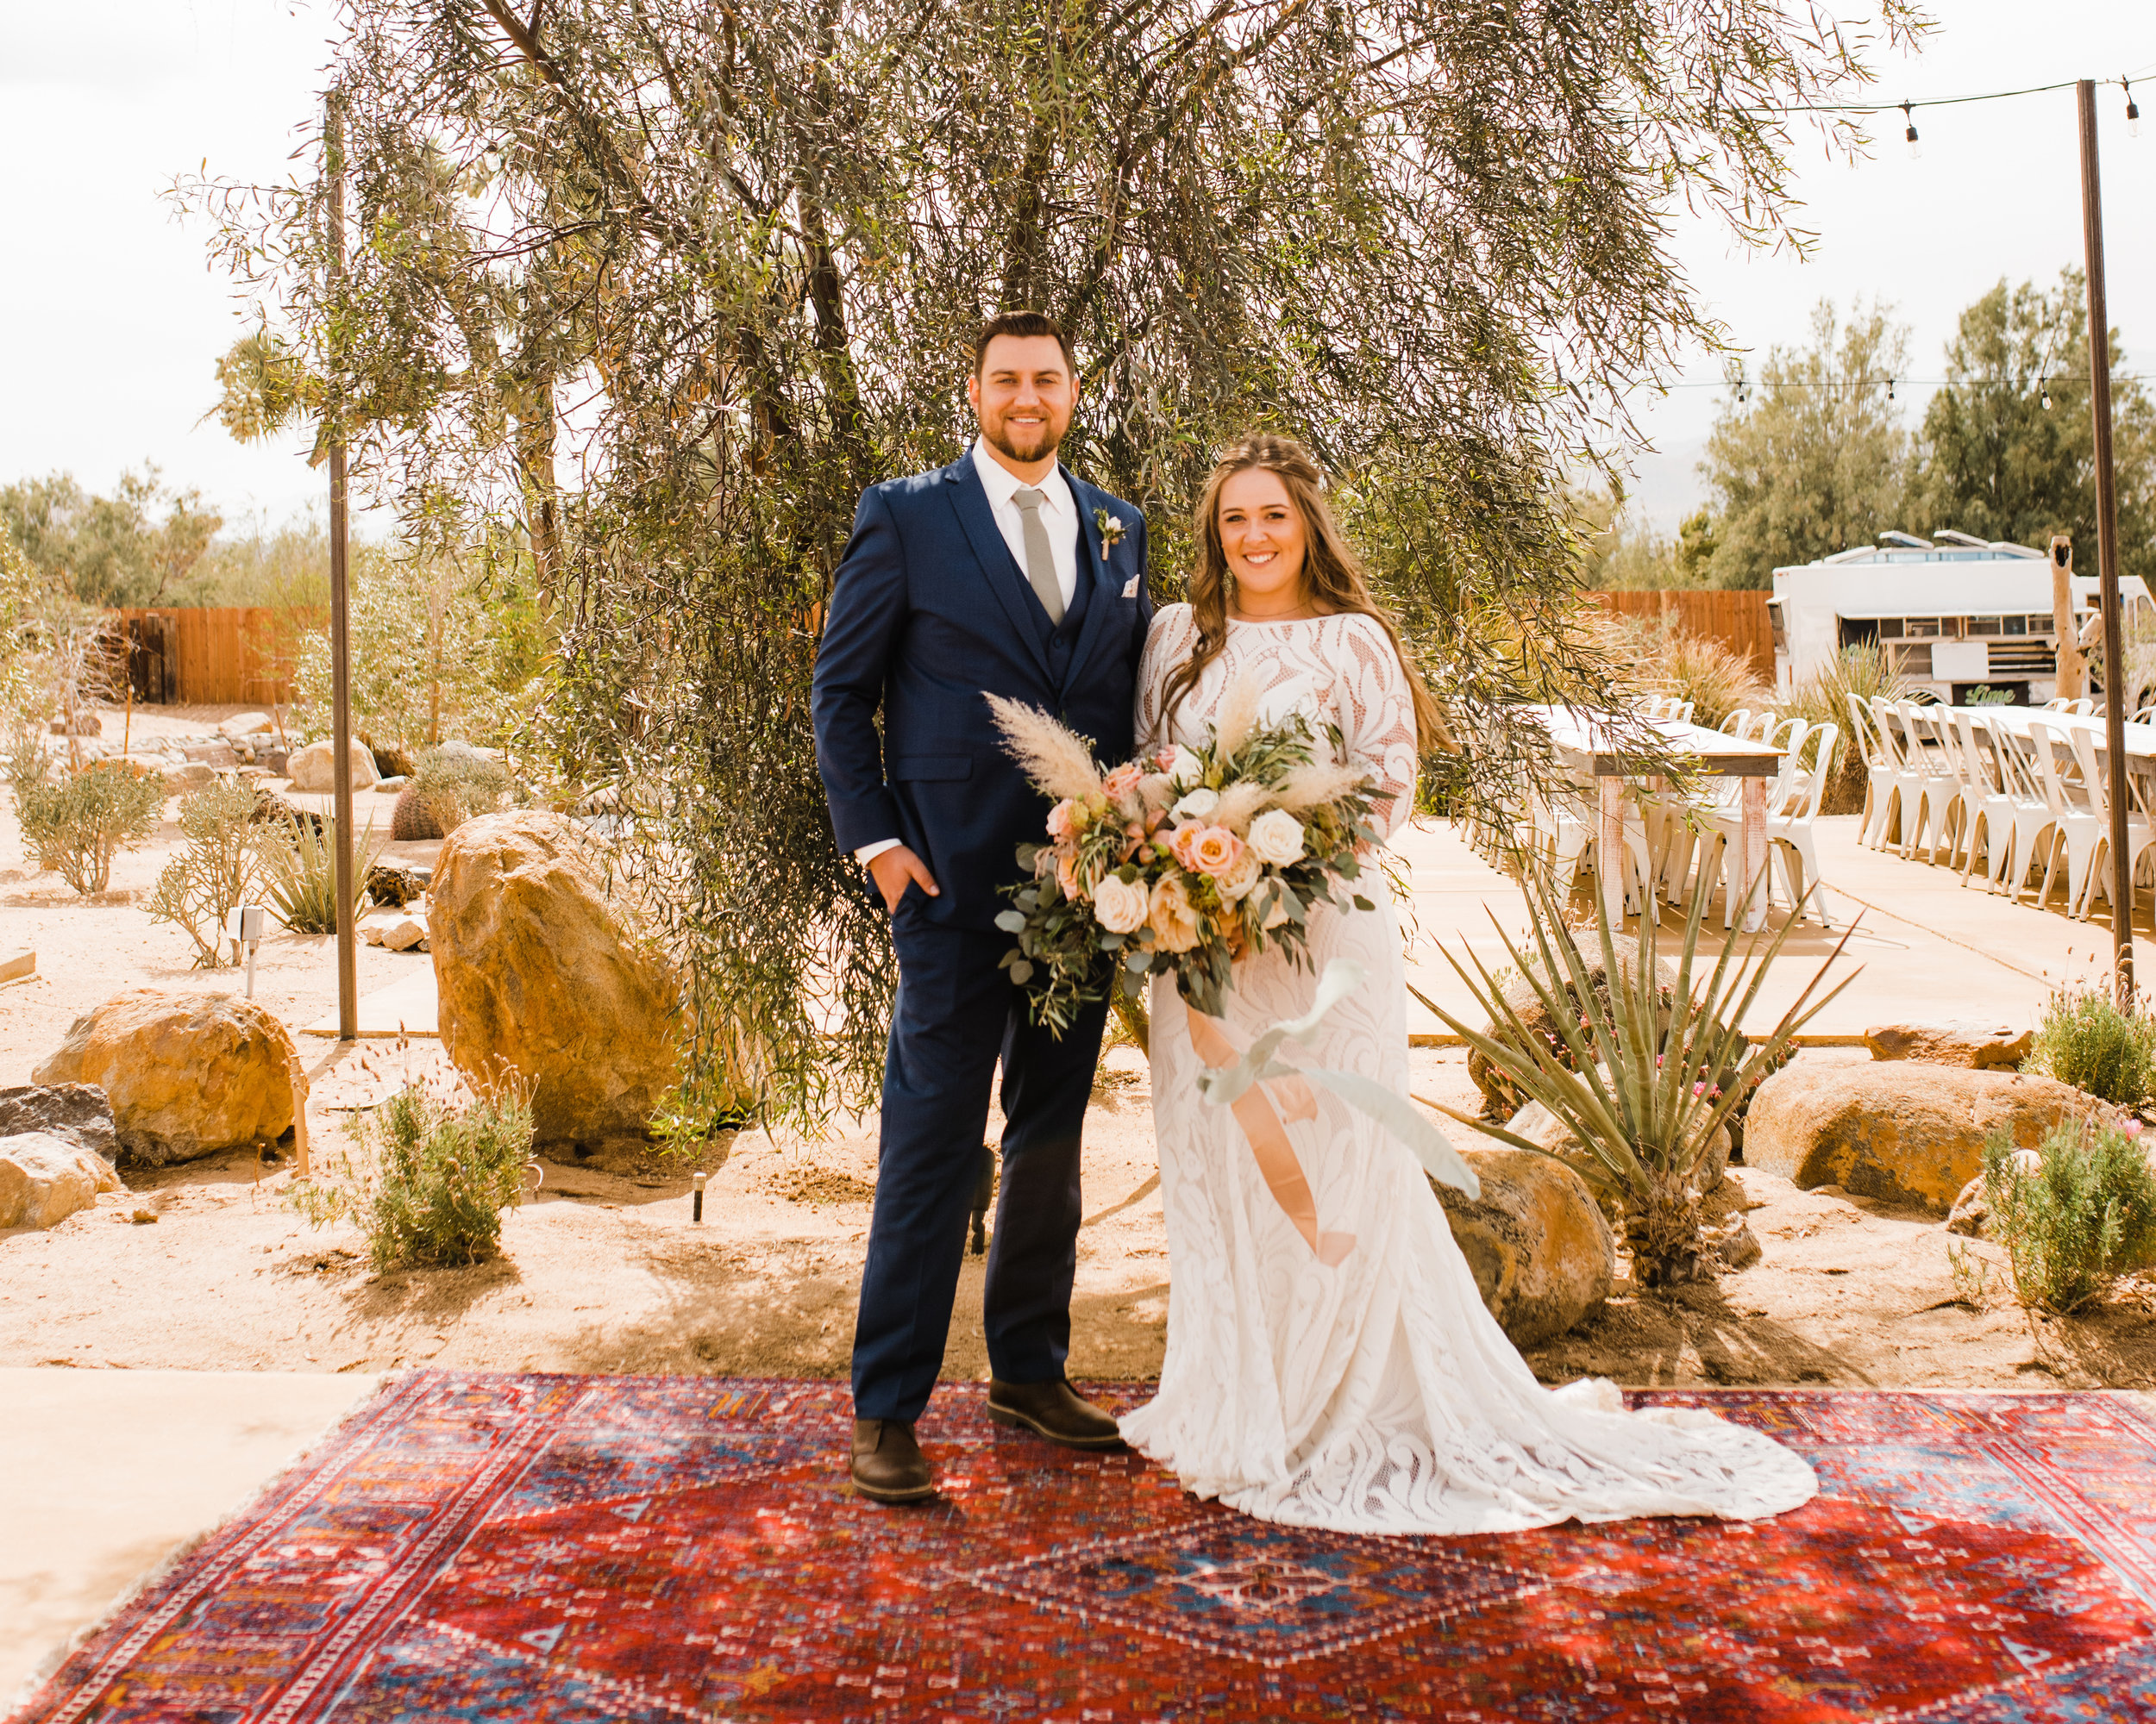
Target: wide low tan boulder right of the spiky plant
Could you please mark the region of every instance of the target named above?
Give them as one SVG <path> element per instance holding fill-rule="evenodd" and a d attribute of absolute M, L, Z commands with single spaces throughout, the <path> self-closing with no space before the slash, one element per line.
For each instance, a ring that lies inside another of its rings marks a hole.
<path fill-rule="evenodd" d="M 2050 1078 L 1919 1060 L 1792 1065 L 1753 1097 L 1744 1164 L 1802 1190 L 1839 1185 L 1947 1215 L 1984 1170 L 1984 1140 L 2005 1129 L 2035 1149 L 2061 1121 L 2109 1121 L 2093 1097 Z"/>

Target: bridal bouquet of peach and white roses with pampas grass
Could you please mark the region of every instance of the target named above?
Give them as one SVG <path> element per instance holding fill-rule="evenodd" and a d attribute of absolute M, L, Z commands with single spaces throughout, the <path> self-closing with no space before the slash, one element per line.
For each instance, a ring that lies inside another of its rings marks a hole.
<path fill-rule="evenodd" d="M 1084 737 L 987 696 L 1011 756 L 1056 797 L 1048 843 L 1018 847 L 1031 879 L 996 916 L 1018 935 L 1003 963 L 1031 989 L 1035 1021 L 1061 1034 L 1087 1002 L 1153 974 L 1218 1017 L 1235 959 L 1281 948 L 1307 963 L 1313 905 L 1371 907 L 1341 884 L 1376 840 L 1365 769 L 1332 763 L 1345 752 L 1332 726 L 1332 759 L 1317 759 L 1300 713 L 1259 722 L 1259 692 L 1231 683 L 1201 748 L 1108 771 Z"/>

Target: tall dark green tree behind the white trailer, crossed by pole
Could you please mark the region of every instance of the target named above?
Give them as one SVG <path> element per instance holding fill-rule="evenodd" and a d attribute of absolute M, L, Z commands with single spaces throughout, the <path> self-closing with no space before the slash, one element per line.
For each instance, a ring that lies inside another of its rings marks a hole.
<path fill-rule="evenodd" d="M 2050 291 L 2003 280 L 1962 312 L 1947 386 L 1923 414 L 1910 483 L 1919 530 L 1955 528 L 2042 550 L 2072 532 L 2096 573 L 2096 433 L 2089 418 L 2089 312 L 2081 269 Z M 2044 397 L 2050 397 L 2050 407 Z M 2111 332 L 2111 448 L 2119 571 L 2156 578 L 2156 407 L 2126 375 Z"/>

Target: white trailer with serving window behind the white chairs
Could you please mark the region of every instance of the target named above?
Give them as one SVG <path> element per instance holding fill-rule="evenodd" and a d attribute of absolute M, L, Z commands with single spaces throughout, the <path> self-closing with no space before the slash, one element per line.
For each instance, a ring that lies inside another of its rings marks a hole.
<path fill-rule="evenodd" d="M 2074 634 L 2093 640 L 2098 578 L 2070 575 Z M 2137 575 L 2119 601 L 2150 603 Z M 1774 571 L 1774 681 L 1787 692 L 1843 646 L 1878 642 L 1902 675 L 1940 700 L 1975 690 L 2040 705 L 2059 694 L 2050 554 L 1966 532 L 1882 532 L 1880 543 Z"/>

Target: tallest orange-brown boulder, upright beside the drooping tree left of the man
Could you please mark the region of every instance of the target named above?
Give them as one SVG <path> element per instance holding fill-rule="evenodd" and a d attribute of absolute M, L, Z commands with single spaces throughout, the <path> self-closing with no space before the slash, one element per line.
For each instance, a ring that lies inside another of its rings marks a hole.
<path fill-rule="evenodd" d="M 640 1138 L 675 1082 L 679 983 L 565 815 L 481 815 L 429 881 L 442 1045 L 474 1084 L 533 1086 L 539 1142 Z"/>

